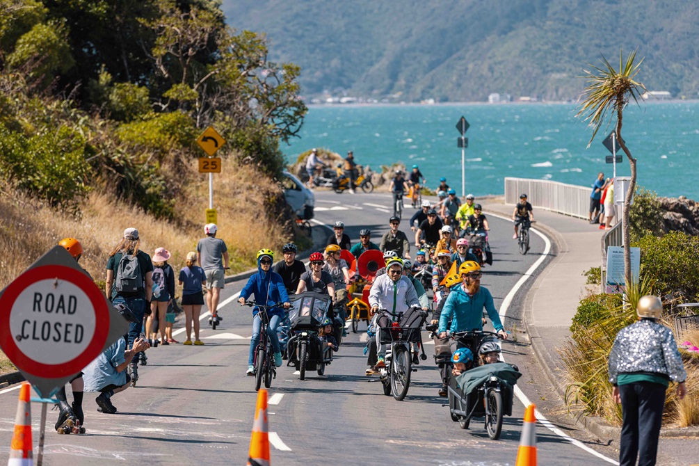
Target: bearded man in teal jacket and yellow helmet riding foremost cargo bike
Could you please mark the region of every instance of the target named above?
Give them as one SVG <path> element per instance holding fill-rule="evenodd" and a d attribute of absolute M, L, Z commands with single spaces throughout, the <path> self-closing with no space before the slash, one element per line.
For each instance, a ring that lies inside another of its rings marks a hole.
<path fill-rule="evenodd" d="M 454 286 L 440 314 L 439 337 L 447 337 L 447 330 L 451 333 L 483 330 L 482 318 L 485 309 L 498 336 L 507 340 L 507 333 L 493 304 L 493 296 L 487 288 L 480 286 L 480 278 L 483 275 L 480 265 L 475 261 L 464 262 L 459 267 L 459 275 L 462 280 L 461 286 Z M 452 320 L 451 328 L 447 328 L 449 319 Z"/>

